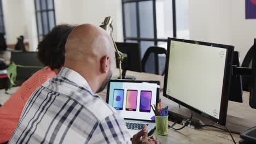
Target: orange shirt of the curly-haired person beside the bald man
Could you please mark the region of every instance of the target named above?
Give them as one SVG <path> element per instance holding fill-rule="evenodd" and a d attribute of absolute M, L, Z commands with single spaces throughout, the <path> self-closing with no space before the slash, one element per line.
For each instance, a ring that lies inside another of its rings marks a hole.
<path fill-rule="evenodd" d="M 21 112 L 32 93 L 46 80 L 56 76 L 49 67 L 38 70 L 30 79 L 22 83 L 21 87 L 0 107 L 0 143 L 9 141 L 13 134 Z"/>

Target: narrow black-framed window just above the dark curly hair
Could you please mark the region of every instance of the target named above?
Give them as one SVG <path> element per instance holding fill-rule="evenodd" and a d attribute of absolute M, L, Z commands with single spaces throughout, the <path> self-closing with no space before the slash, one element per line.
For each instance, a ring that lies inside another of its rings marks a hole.
<path fill-rule="evenodd" d="M 37 20 L 37 36 L 41 41 L 56 25 L 54 0 L 34 0 Z"/>

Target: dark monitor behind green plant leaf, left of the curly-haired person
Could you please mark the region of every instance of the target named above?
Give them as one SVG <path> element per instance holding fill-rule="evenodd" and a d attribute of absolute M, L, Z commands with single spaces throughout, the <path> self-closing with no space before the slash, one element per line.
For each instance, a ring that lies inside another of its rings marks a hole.
<path fill-rule="evenodd" d="M 37 52 L 11 52 L 11 62 L 24 66 L 43 65 L 37 59 Z M 17 67 L 16 85 L 21 85 L 41 68 L 20 68 Z"/>

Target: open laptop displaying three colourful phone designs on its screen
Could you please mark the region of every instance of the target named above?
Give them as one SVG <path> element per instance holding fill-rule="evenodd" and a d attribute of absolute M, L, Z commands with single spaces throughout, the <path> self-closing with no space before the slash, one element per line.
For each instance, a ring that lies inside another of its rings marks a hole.
<path fill-rule="evenodd" d="M 131 137 L 146 124 L 149 133 L 155 128 L 155 114 L 150 105 L 159 99 L 159 81 L 110 80 L 107 103 L 124 117 Z"/>

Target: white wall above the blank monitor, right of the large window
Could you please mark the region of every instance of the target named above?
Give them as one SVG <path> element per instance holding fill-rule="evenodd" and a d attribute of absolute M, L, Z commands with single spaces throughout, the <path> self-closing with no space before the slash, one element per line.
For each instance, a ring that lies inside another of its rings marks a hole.
<path fill-rule="evenodd" d="M 256 38 L 256 19 L 245 19 L 245 1 L 190 0 L 190 39 L 234 45 L 241 61 Z"/>

